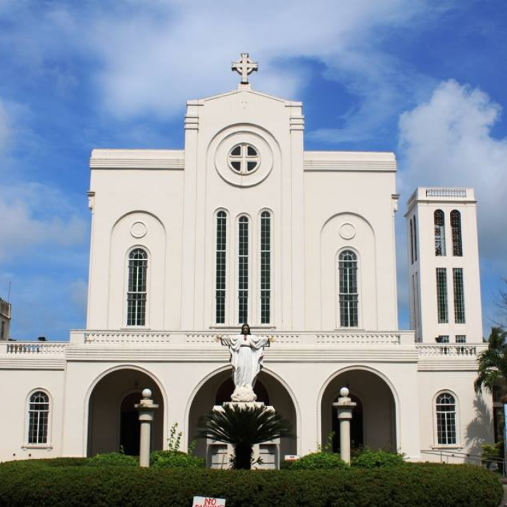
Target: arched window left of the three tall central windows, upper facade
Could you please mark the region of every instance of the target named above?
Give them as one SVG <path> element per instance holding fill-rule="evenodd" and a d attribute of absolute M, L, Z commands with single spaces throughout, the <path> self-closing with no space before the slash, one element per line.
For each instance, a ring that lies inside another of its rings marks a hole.
<path fill-rule="evenodd" d="M 148 254 L 134 249 L 129 255 L 127 325 L 146 325 L 146 274 Z"/>

